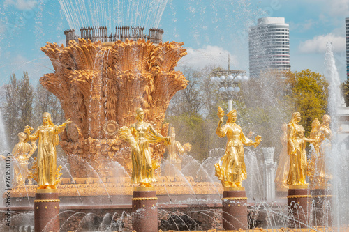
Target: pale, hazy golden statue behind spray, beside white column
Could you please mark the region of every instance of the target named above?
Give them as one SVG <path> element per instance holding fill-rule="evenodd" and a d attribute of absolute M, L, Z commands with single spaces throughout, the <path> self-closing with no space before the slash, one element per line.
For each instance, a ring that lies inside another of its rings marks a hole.
<path fill-rule="evenodd" d="M 280 141 L 282 144 L 281 153 L 279 156 L 279 165 L 278 169 L 276 169 L 276 177 L 275 183 L 278 191 L 286 191 L 288 190 L 287 178 L 288 171 L 290 169 L 290 156 L 287 154 L 287 124 L 283 123 L 281 126 L 281 130 L 283 131 L 280 137 Z"/>

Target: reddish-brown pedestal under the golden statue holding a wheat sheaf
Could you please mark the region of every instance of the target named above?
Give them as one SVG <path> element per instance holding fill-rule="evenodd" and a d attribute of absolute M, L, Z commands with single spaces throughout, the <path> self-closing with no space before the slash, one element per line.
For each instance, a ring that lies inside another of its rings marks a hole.
<path fill-rule="evenodd" d="M 158 231 L 158 198 L 154 187 L 136 187 L 132 199 L 132 229 L 137 232 Z"/>

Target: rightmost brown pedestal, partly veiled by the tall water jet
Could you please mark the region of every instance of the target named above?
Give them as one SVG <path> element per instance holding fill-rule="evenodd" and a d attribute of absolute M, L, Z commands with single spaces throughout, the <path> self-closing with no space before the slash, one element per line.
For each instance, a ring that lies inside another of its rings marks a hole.
<path fill-rule="evenodd" d="M 312 190 L 311 195 L 315 202 L 313 226 L 332 226 L 331 198 L 329 190 Z"/>

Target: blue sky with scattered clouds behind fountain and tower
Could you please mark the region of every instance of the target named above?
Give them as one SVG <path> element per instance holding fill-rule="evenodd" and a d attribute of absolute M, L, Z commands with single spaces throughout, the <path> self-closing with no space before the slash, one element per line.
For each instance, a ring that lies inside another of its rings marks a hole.
<path fill-rule="evenodd" d="M 349 0 L 168 0 L 159 27 L 164 40 L 185 43 L 188 56 L 180 67 L 227 67 L 230 54 L 231 68 L 248 70 L 248 26 L 258 17 L 285 17 L 290 24 L 291 70 L 324 72 L 325 45 L 332 42 L 339 75 L 346 79 Z M 47 41 L 65 43 L 63 31 L 69 27 L 58 0 L 0 1 L 0 84 L 13 72 L 28 71 L 34 83 L 53 72 L 40 47 Z"/>

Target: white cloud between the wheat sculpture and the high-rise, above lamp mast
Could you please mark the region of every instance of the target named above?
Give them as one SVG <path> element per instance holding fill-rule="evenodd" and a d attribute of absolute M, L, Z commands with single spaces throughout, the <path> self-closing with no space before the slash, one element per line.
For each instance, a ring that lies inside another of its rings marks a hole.
<path fill-rule="evenodd" d="M 179 65 L 190 66 L 192 68 L 204 68 L 207 65 L 223 66 L 228 68 L 228 54 L 230 55 L 230 69 L 239 69 L 237 57 L 218 46 L 207 45 L 204 48 L 193 49 L 186 47 L 188 55 L 184 56 Z"/>

